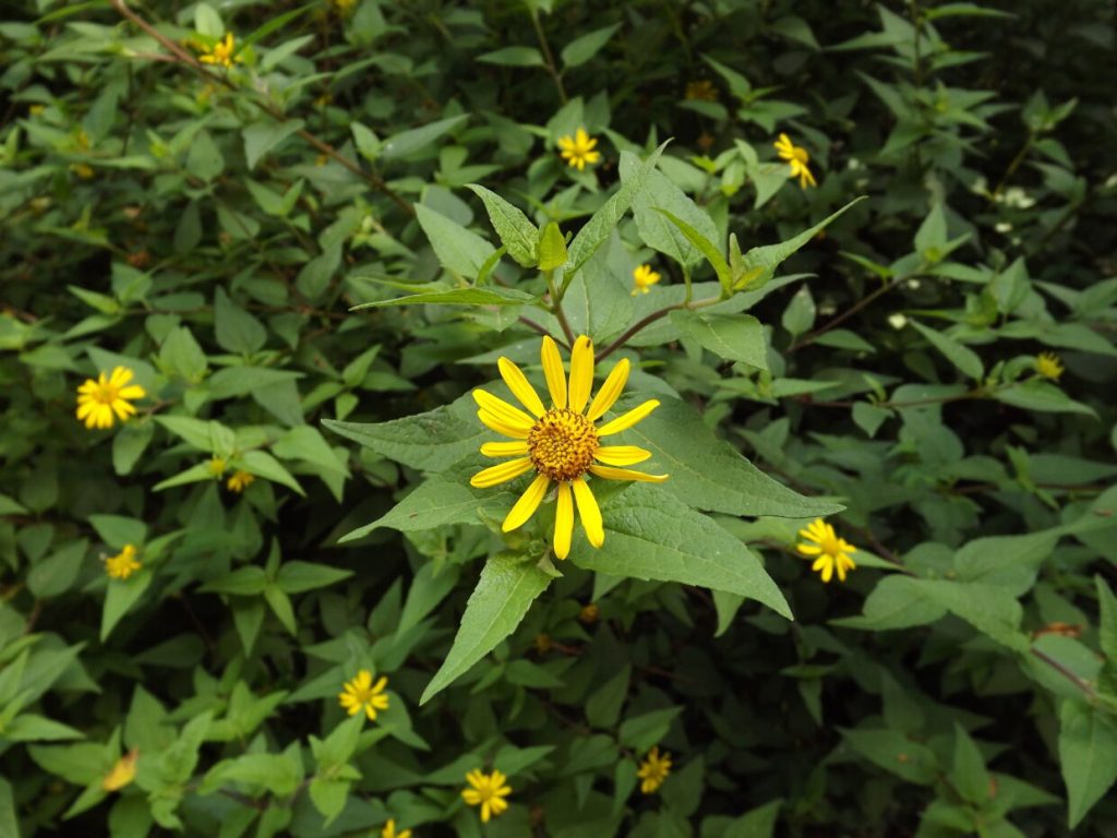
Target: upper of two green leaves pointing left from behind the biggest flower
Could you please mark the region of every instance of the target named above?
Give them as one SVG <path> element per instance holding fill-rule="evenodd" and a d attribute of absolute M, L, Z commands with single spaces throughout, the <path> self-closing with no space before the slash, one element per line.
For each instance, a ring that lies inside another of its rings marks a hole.
<path fill-rule="evenodd" d="M 450 404 L 386 422 L 338 422 L 330 430 L 420 472 L 438 473 L 476 454 L 493 431 L 477 419 L 477 402 L 466 393 Z"/>

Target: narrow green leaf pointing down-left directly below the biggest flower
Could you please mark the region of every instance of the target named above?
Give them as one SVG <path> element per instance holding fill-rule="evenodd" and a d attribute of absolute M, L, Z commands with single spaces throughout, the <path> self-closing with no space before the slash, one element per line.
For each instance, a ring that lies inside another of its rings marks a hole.
<path fill-rule="evenodd" d="M 461 626 L 419 704 L 426 704 L 516 630 L 532 602 L 551 584 L 551 577 L 522 555 L 497 553 L 481 570 L 469 597 Z"/>

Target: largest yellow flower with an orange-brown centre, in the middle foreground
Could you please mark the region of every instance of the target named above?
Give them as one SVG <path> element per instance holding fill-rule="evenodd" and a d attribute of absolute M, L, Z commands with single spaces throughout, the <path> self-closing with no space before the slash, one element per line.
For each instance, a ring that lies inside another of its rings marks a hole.
<path fill-rule="evenodd" d="M 557 483 L 554 551 L 556 556 L 565 559 L 570 553 L 570 543 L 574 534 L 575 501 L 582 527 L 590 543 L 600 547 L 605 541 L 601 510 L 585 482 L 586 473 L 609 480 L 662 483 L 667 479 L 667 475 L 649 475 L 628 468 L 617 468 L 617 466 L 642 463 L 651 456 L 650 451 L 631 445 L 601 445 L 602 437 L 631 428 L 658 408 L 659 402 L 649 399 L 600 428 L 594 427 L 594 422 L 604 416 L 624 389 L 629 374 L 628 359 L 617 362 L 592 402 L 590 391 L 593 389 L 593 341 L 582 335 L 574 342 L 569 388 L 558 347 L 550 336 L 543 339 L 542 359 L 543 374 L 551 393 L 550 410 L 543 406 L 535 388 L 528 383 L 516 364 L 507 358 L 497 361 L 504 382 L 532 412 L 534 419 L 504 399 L 498 399 L 485 390 L 474 390 L 474 399 L 480 406 L 477 418 L 487 427 L 514 440 L 486 442 L 481 446 L 481 454 L 486 457 L 515 459 L 478 472 L 469 480 L 469 485 L 488 488 L 515 479 L 532 469 L 535 470 L 535 479 L 504 520 L 502 528 L 507 533 L 527 523 L 538 508 L 552 480 Z"/>

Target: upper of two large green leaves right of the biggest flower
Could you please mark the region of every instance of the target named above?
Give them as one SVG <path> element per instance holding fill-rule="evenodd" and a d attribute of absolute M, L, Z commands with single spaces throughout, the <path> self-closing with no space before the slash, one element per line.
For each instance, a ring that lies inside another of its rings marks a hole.
<path fill-rule="evenodd" d="M 634 407 L 626 399 L 621 412 Z M 804 497 L 773 480 L 728 442 L 714 436 L 693 408 L 662 398 L 660 406 L 631 430 L 618 436 L 655 456 L 655 468 L 670 475 L 662 485 L 689 506 L 727 515 L 774 515 L 789 518 L 825 517 L 841 504 Z M 651 468 L 647 469 L 651 470 Z"/>

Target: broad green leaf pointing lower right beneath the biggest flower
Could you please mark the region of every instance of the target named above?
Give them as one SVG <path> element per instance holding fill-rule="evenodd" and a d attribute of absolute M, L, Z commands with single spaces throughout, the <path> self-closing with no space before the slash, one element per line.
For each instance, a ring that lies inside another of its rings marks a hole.
<path fill-rule="evenodd" d="M 603 505 L 602 520 L 600 549 L 575 537 L 571 561 L 580 568 L 727 591 L 792 619 L 783 593 L 744 543 L 663 486 L 629 486 Z"/>

